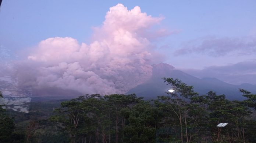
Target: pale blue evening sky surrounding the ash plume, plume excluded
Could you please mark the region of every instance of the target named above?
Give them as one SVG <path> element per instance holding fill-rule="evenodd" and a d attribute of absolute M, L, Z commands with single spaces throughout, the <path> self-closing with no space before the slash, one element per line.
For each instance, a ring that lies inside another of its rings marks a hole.
<path fill-rule="evenodd" d="M 165 18 L 158 27 L 175 32 L 152 44 L 174 67 L 204 69 L 256 59 L 255 0 L 3 0 L 0 44 L 13 53 L 26 53 L 50 37 L 90 44 L 92 28 L 101 26 L 106 12 L 117 3 L 128 10 L 138 5 L 147 15 Z M 180 49 L 189 52 L 177 54 Z"/>

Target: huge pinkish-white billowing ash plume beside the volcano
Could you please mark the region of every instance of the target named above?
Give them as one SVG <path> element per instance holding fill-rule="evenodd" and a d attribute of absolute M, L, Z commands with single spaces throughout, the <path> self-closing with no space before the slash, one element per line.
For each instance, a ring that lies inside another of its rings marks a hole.
<path fill-rule="evenodd" d="M 145 82 L 152 74 L 154 59 L 159 59 L 146 33 L 152 33 L 152 26 L 163 18 L 142 13 L 138 6 L 127 10 L 122 4 L 111 7 L 105 18 L 94 29 L 94 42 L 89 45 L 71 37 L 41 41 L 18 66 L 19 82 L 42 95 L 53 89 L 126 93 Z M 159 31 L 152 34 L 164 35 Z"/>

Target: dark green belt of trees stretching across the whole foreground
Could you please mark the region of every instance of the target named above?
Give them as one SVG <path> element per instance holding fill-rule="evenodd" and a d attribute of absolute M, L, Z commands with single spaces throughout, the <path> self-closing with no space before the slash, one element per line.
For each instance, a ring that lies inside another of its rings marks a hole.
<path fill-rule="evenodd" d="M 31 102 L 30 112 L 1 109 L 0 143 L 255 143 L 256 95 L 244 101 L 181 80 L 163 78 L 174 93 L 145 101 L 135 94 L 84 95 Z M 14 118 L 13 118 L 14 117 Z M 218 123 L 229 123 L 216 127 Z"/>

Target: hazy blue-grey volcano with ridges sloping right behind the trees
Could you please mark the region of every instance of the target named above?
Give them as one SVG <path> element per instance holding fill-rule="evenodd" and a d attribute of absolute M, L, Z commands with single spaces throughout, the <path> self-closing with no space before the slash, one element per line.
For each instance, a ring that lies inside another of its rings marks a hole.
<path fill-rule="evenodd" d="M 256 93 L 256 85 L 249 83 L 233 85 L 216 78 L 199 79 L 175 69 L 172 65 L 160 63 L 153 65 L 153 74 L 149 80 L 129 90 L 127 94 L 136 93 L 138 96 L 144 97 L 145 99 L 156 98 L 158 95 L 166 95 L 165 92 L 170 89 L 171 85 L 166 85 L 164 80 L 161 79 L 163 77 L 178 78 L 187 85 L 193 86 L 195 91 L 200 95 L 207 94 L 208 91 L 213 90 L 217 95 L 225 94 L 227 99 L 241 100 L 244 99 L 244 97 L 242 97 L 242 94 L 238 91 L 239 88 Z"/>

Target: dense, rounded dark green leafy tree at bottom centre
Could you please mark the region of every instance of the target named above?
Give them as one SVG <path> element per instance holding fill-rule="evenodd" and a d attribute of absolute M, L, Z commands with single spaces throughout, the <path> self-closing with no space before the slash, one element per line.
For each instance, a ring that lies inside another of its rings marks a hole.
<path fill-rule="evenodd" d="M 149 102 L 140 102 L 124 112 L 127 125 L 124 127 L 125 143 L 154 143 L 158 110 Z"/>

